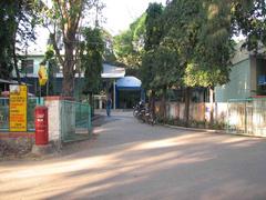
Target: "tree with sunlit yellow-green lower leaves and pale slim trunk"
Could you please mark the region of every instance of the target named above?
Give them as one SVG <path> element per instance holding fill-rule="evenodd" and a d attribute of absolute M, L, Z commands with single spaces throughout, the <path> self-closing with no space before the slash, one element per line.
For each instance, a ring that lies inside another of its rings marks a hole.
<path fill-rule="evenodd" d="M 205 2 L 194 49 L 194 59 L 185 70 L 185 84 L 209 89 L 211 123 L 213 123 L 214 87 L 229 81 L 234 52 L 231 6 L 218 0 Z"/>

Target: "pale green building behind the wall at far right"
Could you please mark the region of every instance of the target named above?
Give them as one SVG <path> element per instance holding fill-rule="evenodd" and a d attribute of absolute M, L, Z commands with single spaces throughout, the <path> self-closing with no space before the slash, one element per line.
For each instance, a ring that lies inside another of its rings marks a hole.
<path fill-rule="evenodd" d="M 229 82 L 215 88 L 215 101 L 227 102 L 229 99 L 247 99 L 266 94 L 266 57 L 263 50 L 258 54 L 241 50 L 232 60 Z"/>

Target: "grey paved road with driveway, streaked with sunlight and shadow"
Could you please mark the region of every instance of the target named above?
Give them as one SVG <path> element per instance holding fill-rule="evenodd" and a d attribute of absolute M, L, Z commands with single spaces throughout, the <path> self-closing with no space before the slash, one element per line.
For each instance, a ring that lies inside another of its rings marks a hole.
<path fill-rule="evenodd" d="M 266 199 L 265 139 L 103 122 L 55 158 L 0 162 L 0 199 Z"/>

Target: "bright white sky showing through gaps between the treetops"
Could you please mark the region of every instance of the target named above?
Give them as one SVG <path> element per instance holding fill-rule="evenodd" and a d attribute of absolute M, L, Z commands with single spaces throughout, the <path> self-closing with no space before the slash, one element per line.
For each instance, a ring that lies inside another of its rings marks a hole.
<path fill-rule="evenodd" d="M 130 24 L 139 18 L 149 7 L 150 2 L 158 2 L 165 6 L 166 0 L 102 0 L 105 8 L 102 10 L 103 21 L 101 26 L 112 36 L 129 29 Z M 29 52 L 45 51 L 49 32 L 43 28 L 37 29 L 35 44 L 29 48 Z"/>

